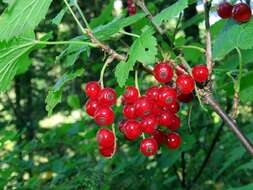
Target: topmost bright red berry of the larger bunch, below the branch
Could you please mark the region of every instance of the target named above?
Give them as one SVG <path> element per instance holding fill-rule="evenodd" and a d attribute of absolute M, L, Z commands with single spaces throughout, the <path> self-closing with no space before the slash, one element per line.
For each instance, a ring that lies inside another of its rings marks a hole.
<path fill-rule="evenodd" d="M 158 82 L 169 82 L 173 77 L 173 69 L 168 63 L 158 63 L 154 67 L 154 76 Z"/>

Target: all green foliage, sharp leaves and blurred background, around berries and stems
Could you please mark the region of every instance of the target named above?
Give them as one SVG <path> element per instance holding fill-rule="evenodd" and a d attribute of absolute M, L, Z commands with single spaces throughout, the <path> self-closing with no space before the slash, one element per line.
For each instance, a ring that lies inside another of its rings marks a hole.
<path fill-rule="evenodd" d="M 190 66 L 205 64 L 204 14 L 190 11 L 197 1 L 145 1 L 173 48 L 140 9 L 128 16 L 125 8 L 115 10 L 114 2 L 70 1 L 81 20 L 80 5 L 98 40 L 128 57 L 109 65 L 106 86 L 121 94 L 126 85 L 133 85 L 132 71 L 140 64 L 152 68 L 168 57 L 180 63 L 174 50 L 180 50 Z M 98 127 L 83 109 L 83 85 L 99 80 L 104 52 L 81 32 L 64 1 L 5 0 L 0 10 L 0 189 L 253 188 L 252 158 L 226 126 L 194 181 L 222 123 L 197 99 L 181 107 L 180 149 L 162 146 L 158 155 L 147 158 L 139 153 L 138 141 L 126 141 L 116 129 L 118 151 L 111 159 L 102 158 L 95 138 Z M 231 107 L 240 72 L 239 48 L 243 70 L 237 122 L 251 140 L 252 24 L 227 20 L 211 26 L 214 96 L 223 107 Z M 141 92 L 156 84 L 145 72 L 138 74 Z M 114 110 L 118 123 L 122 106 Z"/>

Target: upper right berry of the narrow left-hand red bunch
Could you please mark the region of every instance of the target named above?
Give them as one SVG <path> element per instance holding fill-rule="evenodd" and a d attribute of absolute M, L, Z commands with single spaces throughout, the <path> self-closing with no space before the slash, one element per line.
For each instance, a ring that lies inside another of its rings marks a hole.
<path fill-rule="evenodd" d="M 104 88 L 98 96 L 99 103 L 104 106 L 112 106 L 116 103 L 117 94 L 112 88 Z"/>

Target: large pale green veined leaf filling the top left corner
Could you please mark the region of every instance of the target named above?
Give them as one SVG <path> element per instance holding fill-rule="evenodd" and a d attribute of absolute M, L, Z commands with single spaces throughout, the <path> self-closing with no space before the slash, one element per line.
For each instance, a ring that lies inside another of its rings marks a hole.
<path fill-rule="evenodd" d="M 0 17 L 0 40 L 33 31 L 45 17 L 52 0 L 18 0 Z"/>

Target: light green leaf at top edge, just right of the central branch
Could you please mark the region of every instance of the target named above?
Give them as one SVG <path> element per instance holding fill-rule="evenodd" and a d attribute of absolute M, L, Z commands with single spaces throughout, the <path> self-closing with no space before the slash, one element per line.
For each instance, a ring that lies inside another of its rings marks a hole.
<path fill-rule="evenodd" d="M 160 25 L 162 22 L 171 19 L 172 17 L 177 16 L 181 11 L 183 11 L 188 6 L 188 0 L 179 0 L 173 5 L 167 7 L 158 15 L 156 15 L 153 21 Z"/>

